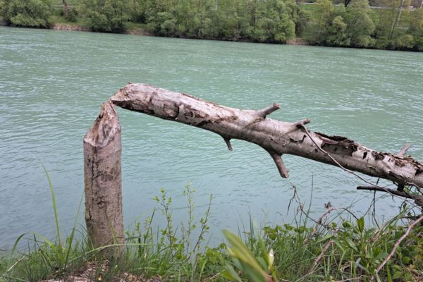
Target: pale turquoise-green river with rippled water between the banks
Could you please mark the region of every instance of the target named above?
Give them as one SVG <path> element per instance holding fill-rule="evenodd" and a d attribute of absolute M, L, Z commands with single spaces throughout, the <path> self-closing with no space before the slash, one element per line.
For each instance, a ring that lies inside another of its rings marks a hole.
<path fill-rule="evenodd" d="M 145 82 L 226 106 L 281 109 L 271 118 L 310 118 L 311 130 L 344 135 L 381 151 L 423 159 L 423 54 L 400 51 L 170 39 L 0 27 L 0 249 L 21 233 L 55 235 L 49 171 L 63 233 L 83 194 L 82 138 L 102 102 L 127 82 Z M 123 145 L 125 224 L 143 221 L 165 188 L 175 225 L 188 219 L 182 195 L 197 190 L 197 219 L 213 195 L 209 237 L 222 228 L 282 224 L 293 186 L 313 216 L 324 203 L 360 214 L 372 192 L 340 168 L 284 157 L 280 178 L 263 149 L 187 125 L 118 111 Z M 400 201 L 385 195 L 376 212 L 390 216 Z M 295 204 L 293 204 L 295 206 Z M 291 207 L 293 211 L 295 209 Z M 293 212 L 291 211 L 291 212 Z M 83 216 L 79 224 L 84 225 Z M 163 224 L 157 213 L 154 224 Z"/>

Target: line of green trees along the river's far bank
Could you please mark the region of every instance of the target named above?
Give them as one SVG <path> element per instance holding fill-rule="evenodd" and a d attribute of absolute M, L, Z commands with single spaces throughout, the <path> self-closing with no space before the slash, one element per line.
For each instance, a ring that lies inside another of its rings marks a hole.
<path fill-rule="evenodd" d="M 423 0 L 0 0 L 9 25 L 423 51 Z M 422 3 L 420 3 L 422 2 Z M 376 6 L 377 8 L 371 8 Z M 414 5 L 414 6 L 411 6 Z M 411 6 L 411 7 L 410 7 Z"/>

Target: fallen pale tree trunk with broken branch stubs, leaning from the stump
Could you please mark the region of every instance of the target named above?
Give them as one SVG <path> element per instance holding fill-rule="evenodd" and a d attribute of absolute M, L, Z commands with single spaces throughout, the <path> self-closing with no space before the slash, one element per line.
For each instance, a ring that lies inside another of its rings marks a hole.
<path fill-rule="evenodd" d="M 397 185 L 423 188 L 423 165 L 412 157 L 376 152 L 347 137 L 311 132 L 304 126 L 308 119 L 289 123 L 267 118 L 279 109 L 277 104 L 257 111 L 233 109 L 145 84 L 126 85 L 111 97 L 111 102 L 123 109 L 217 133 L 228 149 L 232 149 L 231 139 L 255 143 L 269 152 L 283 178 L 288 178 L 288 170 L 281 155 L 293 154 L 386 178 Z"/>

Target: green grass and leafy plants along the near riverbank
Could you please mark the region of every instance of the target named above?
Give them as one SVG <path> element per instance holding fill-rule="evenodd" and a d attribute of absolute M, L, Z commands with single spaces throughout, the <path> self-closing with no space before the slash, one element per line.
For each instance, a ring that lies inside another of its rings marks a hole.
<path fill-rule="evenodd" d="M 190 185 L 183 192 L 187 199 L 185 223 L 174 222 L 172 199 L 161 190 L 153 199 L 157 209 L 143 223 L 127 229 L 123 246 L 98 249 L 90 246 L 86 231 L 78 229 L 76 221 L 68 238 L 61 240 L 55 208 L 56 239 L 37 233 L 21 235 L 11 250 L 0 252 L 0 281 L 423 279 L 423 226 L 407 228 L 415 218 L 405 204 L 398 216 L 384 223 L 370 213 L 359 218 L 330 203 L 321 216 L 313 218 L 294 192 L 291 208 L 296 204 L 297 209 L 292 222 L 257 228 L 250 219 L 245 229 L 238 229 L 238 235 L 224 231 L 226 240 L 211 245 L 207 238 L 212 195 L 206 207 L 195 207 L 194 192 Z M 162 227 L 157 227 L 159 216 L 165 222 Z"/>

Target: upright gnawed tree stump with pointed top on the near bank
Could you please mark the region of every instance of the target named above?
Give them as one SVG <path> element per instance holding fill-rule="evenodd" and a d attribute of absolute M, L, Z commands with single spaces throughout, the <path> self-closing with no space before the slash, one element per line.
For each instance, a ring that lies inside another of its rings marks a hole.
<path fill-rule="evenodd" d="M 121 152 L 118 114 L 106 102 L 84 137 L 85 223 L 94 247 L 123 243 Z"/>

